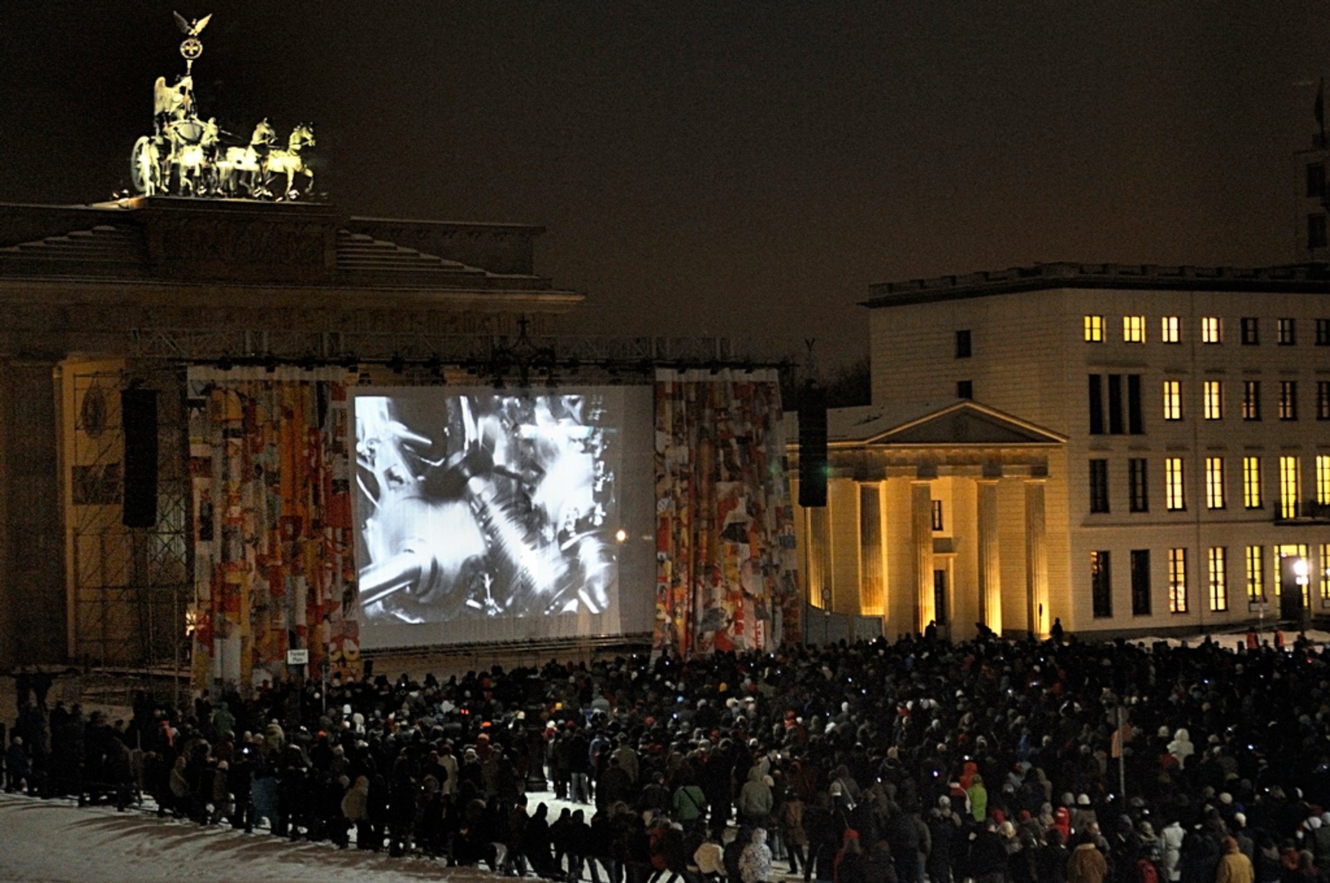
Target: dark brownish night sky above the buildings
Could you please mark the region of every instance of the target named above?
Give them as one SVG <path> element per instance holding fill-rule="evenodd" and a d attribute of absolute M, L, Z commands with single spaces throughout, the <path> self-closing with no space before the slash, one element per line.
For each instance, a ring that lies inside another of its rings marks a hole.
<path fill-rule="evenodd" d="M 192 5 L 193 4 L 193 5 Z M 348 213 L 549 229 L 583 330 L 866 351 L 871 282 L 1291 261 L 1323 1 L 0 3 L 0 199 L 128 186 L 172 9 Z"/>

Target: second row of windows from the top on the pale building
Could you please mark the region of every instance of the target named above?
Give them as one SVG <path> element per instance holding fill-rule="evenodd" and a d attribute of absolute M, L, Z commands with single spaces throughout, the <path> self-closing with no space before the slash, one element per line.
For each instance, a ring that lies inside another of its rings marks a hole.
<path fill-rule="evenodd" d="M 972 387 L 966 390 L 972 394 Z M 1298 382 L 1279 380 L 1278 418 L 1298 419 Z M 1330 420 L 1330 380 L 1317 380 L 1317 420 Z M 960 387 L 958 386 L 958 395 Z M 1242 419 L 1261 419 L 1261 380 L 1242 380 Z M 960 396 L 968 398 L 968 396 Z M 1182 382 L 1164 380 L 1160 396 L 1165 420 L 1181 420 Z M 1201 416 L 1206 420 L 1222 420 L 1228 414 L 1224 380 L 1202 380 Z M 1089 434 L 1091 435 L 1140 435 L 1145 431 L 1141 419 L 1141 376 L 1138 374 L 1091 374 L 1089 375 Z M 1105 420 L 1107 406 L 1107 420 Z"/>

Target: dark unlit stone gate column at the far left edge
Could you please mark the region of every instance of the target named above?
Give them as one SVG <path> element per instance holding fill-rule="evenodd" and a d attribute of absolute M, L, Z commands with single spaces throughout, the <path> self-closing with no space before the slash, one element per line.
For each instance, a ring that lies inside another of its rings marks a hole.
<path fill-rule="evenodd" d="M 52 358 L 0 364 L 0 665 L 68 658 L 59 384 Z M 21 636 L 21 640 L 20 640 Z"/>

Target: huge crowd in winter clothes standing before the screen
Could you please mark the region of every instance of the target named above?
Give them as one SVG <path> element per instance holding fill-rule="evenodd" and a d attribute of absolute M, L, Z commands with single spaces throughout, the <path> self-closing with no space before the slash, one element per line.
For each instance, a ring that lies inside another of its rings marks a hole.
<path fill-rule="evenodd" d="M 916 636 L 140 697 L 128 721 L 20 682 L 5 782 L 569 882 L 1323 883 L 1327 661 Z"/>

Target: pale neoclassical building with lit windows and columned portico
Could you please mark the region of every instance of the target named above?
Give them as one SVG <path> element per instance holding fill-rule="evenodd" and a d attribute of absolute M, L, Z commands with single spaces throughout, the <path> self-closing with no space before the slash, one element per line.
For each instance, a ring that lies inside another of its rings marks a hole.
<path fill-rule="evenodd" d="M 863 306 L 874 406 L 829 415 L 829 505 L 797 515 L 813 606 L 888 636 L 1330 609 L 1325 265 L 1052 263 Z"/>

